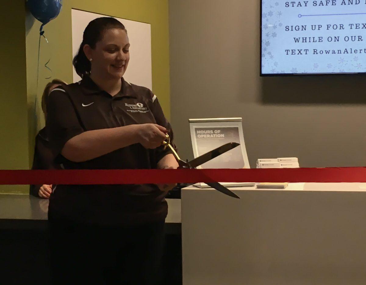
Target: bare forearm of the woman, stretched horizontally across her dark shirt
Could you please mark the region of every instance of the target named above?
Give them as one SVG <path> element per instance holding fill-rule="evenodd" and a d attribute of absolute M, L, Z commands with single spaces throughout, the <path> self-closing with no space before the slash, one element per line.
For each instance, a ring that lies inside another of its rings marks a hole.
<path fill-rule="evenodd" d="M 82 162 L 138 143 L 136 125 L 86 131 L 66 142 L 61 154 L 68 160 Z"/>

